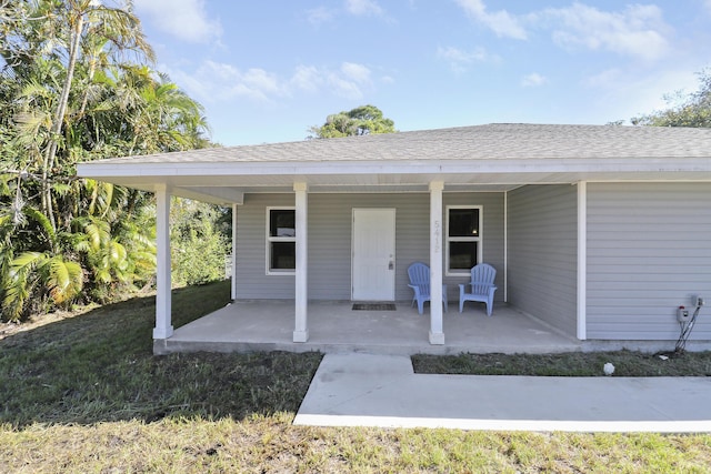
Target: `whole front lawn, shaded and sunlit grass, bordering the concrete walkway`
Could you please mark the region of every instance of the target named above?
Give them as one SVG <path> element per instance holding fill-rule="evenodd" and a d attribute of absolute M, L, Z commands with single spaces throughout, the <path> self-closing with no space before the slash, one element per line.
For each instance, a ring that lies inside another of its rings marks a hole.
<path fill-rule="evenodd" d="M 227 283 L 177 290 L 173 323 L 228 297 Z M 152 296 L 136 297 L 4 329 L 0 472 L 701 473 L 711 465 L 711 435 L 292 426 L 321 354 L 153 356 L 153 311 Z"/>

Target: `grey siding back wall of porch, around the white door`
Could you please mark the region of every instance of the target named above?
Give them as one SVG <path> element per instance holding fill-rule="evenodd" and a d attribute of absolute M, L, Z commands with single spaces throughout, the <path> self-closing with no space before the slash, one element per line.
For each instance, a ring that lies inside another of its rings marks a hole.
<path fill-rule="evenodd" d="M 395 300 L 410 301 L 408 266 L 429 261 L 429 193 L 309 194 L 309 299 L 351 299 L 353 208 L 395 209 Z M 293 299 L 294 276 L 266 274 L 266 209 L 292 206 L 293 194 L 248 194 L 238 209 L 237 297 Z M 503 299 L 503 194 L 444 193 L 443 205 L 483 206 L 483 260 L 499 272 L 497 300 Z M 298 231 L 297 231 L 298 233 Z M 445 278 L 450 302 L 459 301 L 458 283 Z M 452 305 L 455 307 L 455 304 Z"/>

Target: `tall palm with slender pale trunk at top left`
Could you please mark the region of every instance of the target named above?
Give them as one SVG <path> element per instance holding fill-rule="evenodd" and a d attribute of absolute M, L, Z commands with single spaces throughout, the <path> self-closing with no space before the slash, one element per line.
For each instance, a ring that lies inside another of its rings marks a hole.
<path fill-rule="evenodd" d="M 49 218 L 54 230 L 54 213 L 50 175 L 54 168 L 62 128 L 67 119 L 70 93 L 74 85 L 74 74 L 80 61 L 88 63 L 90 78 L 96 70 L 97 57 L 108 49 L 111 52 L 132 49 L 148 59 L 153 51 L 138 26 L 140 21 L 127 9 L 109 8 L 97 0 L 38 0 L 14 2 L 14 7 L 3 3 L 3 17 L 19 22 L 17 30 L 3 29 L 0 50 L 9 67 L 28 68 L 27 61 L 37 59 L 43 48 L 48 53 L 42 58 L 57 73 L 49 84 L 42 119 L 49 130 L 40 145 L 41 203 L 42 212 Z M 8 27 L 11 28 L 11 24 Z M 18 30 L 23 28 L 22 33 Z M 33 83 L 32 85 L 40 85 Z"/>

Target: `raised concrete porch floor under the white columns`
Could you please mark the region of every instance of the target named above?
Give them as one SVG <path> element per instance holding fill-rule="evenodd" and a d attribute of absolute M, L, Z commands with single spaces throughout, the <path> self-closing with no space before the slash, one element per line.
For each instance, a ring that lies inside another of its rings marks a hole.
<path fill-rule="evenodd" d="M 237 301 L 156 341 L 157 354 L 170 352 L 289 351 L 363 352 L 410 355 L 471 353 L 551 353 L 582 350 L 580 341 L 503 303 L 487 316 L 483 305 L 468 303 L 444 313 L 444 345 L 431 345 L 429 305 L 418 314 L 410 302 L 395 311 L 353 311 L 353 303 L 310 302 L 309 341 L 292 342 L 293 301 Z"/>

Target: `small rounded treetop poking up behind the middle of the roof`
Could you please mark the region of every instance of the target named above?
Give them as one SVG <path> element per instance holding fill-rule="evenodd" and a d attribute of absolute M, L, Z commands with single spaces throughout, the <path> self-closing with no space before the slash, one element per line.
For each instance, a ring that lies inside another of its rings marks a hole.
<path fill-rule="evenodd" d="M 321 127 L 309 129 L 309 139 L 367 135 L 370 133 L 395 133 L 394 122 L 382 115 L 374 105 L 361 105 L 349 112 L 339 112 L 326 118 Z"/>

